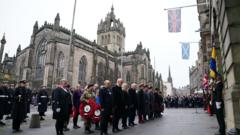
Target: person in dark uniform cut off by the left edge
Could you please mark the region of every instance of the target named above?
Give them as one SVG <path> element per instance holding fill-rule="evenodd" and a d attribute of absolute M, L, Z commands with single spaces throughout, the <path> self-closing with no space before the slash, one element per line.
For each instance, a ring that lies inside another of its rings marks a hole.
<path fill-rule="evenodd" d="M 0 126 L 6 125 L 2 122 L 3 116 L 5 115 L 7 106 L 7 88 L 3 85 L 0 86 Z"/>

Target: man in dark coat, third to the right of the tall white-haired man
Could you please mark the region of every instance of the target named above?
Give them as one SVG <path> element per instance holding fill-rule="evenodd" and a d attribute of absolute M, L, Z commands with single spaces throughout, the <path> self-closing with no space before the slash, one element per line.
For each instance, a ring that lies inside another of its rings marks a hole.
<path fill-rule="evenodd" d="M 138 119 L 139 123 L 144 123 L 143 117 L 145 114 L 145 98 L 144 98 L 144 84 L 139 85 L 138 91 Z"/>

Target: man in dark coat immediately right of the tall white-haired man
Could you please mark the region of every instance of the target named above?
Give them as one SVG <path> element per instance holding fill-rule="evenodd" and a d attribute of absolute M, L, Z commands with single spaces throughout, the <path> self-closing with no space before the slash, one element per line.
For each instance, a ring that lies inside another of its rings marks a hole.
<path fill-rule="evenodd" d="M 129 94 L 128 94 L 128 84 L 123 83 L 123 112 L 122 112 L 122 127 L 123 129 L 127 129 L 127 118 L 129 115 Z"/>

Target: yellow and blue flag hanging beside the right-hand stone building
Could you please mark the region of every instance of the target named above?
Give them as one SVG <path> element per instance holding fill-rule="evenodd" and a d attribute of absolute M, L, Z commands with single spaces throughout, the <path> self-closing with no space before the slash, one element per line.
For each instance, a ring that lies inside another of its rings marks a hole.
<path fill-rule="evenodd" d="M 213 46 L 212 48 L 212 56 L 210 59 L 210 77 L 216 78 L 217 74 L 217 66 L 216 66 L 216 47 Z"/>

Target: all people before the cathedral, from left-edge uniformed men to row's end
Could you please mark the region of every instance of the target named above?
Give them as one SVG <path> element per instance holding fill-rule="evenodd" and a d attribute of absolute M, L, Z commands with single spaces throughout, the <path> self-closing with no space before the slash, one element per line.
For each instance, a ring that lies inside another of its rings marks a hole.
<path fill-rule="evenodd" d="M 56 88 L 48 93 L 46 87 L 41 87 L 36 93 L 31 93 L 27 82 L 22 80 L 15 88 L 14 85 L 0 85 L 0 125 L 4 126 L 3 116 L 12 119 L 13 132 L 21 132 L 20 125 L 30 112 L 30 104 L 38 106 L 41 120 L 44 120 L 48 104 L 51 102 L 53 119 L 56 120 L 57 135 L 63 135 L 68 128 L 69 121 L 73 121 L 73 128 L 80 128 L 79 116 L 84 120 L 84 131 L 91 134 L 92 124 L 101 135 L 108 134 L 108 126 L 112 125 L 112 132 L 117 133 L 138 123 L 160 118 L 164 110 L 164 99 L 159 88 L 144 84 L 132 83 L 130 86 L 118 79 L 116 84 L 105 80 L 102 86 L 88 84 L 82 88 L 80 83 L 71 87 L 67 80 L 61 80 Z M 119 124 L 121 120 L 121 124 Z M 119 128 L 119 125 L 122 128 Z"/>

